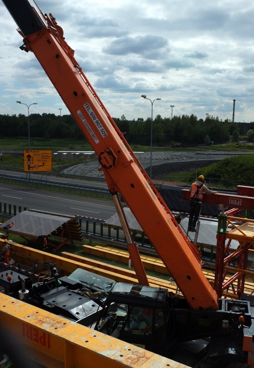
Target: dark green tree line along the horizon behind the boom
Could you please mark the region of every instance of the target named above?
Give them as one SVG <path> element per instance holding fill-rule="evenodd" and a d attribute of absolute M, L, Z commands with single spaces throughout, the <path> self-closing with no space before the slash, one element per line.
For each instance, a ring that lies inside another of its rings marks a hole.
<path fill-rule="evenodd" d="M 127 120 L 122 115 L 121 118 L 113 119 L 129 144 L 150 145 L 150 117 L 146 120 L 143 118 Z M 182 145 L 209 145 L 210 142 L 220 144 L 229 142 L 230 139 L 237 142 L 240 135 L 245 135 L 249 140 L 254 138 L 254 122 L 232 123 L 228 119 L 222 121 L 214 116 L 198 120 L 194 114 L 175 115 L 172 118 L 157 115 L 152 123 L 153 145 L 157 146 L 171 145 L 172 142 L 179 142 Z M 24 114 L 0 115 L 0 126 L 2 138 L 28 136 L 28 117 Z M 84 139 L 71 115 L 30 114 L 29 128 L 31 138 Z"/>

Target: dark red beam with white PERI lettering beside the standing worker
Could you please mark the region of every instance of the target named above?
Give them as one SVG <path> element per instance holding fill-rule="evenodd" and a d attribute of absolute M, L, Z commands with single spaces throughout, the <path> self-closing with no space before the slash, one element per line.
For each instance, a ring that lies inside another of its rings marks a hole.
<path fill-rule="evenodd" d="M 253 188 L 254 189 L 254 188 Z M 190 197 L 189 189 L 182 189 L 182 201 L 188 201 Z M 253 192 L 254 194 L 254 192 Z M 206 205 L 225 205 L 232 208 L 253 209 L 254 197 L 245 197 L 236 194 L 204 194 L 203 204 Z"/>

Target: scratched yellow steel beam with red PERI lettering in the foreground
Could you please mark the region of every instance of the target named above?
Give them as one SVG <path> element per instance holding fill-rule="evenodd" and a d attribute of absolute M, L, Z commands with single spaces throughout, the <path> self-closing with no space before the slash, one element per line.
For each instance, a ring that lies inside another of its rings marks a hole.
<path fill-rule="evenodd" d="M 0 320 L 24 354 L 48 368 L 187 367 L 2 293 Z"/>

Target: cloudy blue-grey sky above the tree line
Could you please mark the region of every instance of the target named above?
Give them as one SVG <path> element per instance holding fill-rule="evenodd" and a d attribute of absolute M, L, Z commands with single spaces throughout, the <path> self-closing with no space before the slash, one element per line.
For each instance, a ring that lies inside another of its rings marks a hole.
<path fill-rule="evenodd" d="M 21 1 L 21 0 L 19 0 Z M 254 121 L 253 0 L 37 0 L 112 117 Z M 69 114 L 0 1 L 0 114 Z M 62 110 L 59 110 L 62 109 Z"/>

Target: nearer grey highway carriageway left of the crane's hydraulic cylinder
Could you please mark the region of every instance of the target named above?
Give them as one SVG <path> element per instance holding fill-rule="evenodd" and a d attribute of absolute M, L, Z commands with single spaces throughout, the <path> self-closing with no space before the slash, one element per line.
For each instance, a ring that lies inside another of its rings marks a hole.
<path fill-rule="evenodd" d="M 62 215 L 80 215 L 107 220 L 116 213 L 114 203 L 101 199 L 60 194 L 0 183 L 0 202 Z M 8 207 L 7 207 L 8 209 Z"/>

